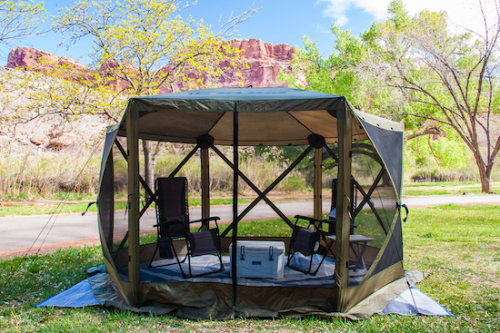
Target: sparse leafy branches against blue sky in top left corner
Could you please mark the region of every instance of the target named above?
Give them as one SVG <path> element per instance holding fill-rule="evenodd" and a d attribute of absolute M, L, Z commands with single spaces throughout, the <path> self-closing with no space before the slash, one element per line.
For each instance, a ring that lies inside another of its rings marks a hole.
<path fill-rule="evenodd" d="M 33 0 L 2 0 L 0 2 L 0 44 L 12 43 L 24 37 L 43 34 L 39 24 L 45 21 L 45 9 Z"/>

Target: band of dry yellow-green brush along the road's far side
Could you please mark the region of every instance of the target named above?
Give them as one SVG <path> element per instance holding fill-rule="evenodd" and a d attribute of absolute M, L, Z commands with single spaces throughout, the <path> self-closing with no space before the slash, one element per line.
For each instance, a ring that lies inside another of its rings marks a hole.
<path fill-rule="evenodd" d="M 155 157 L 155 177 L 166 177 L 181 162 L 191 146 L 165 145 Z M 221 148 L 223 149 L 223 148 Z M 225 148 L 223 149 L 225 150 Z M 225 150 L 232 160 L 231 149 Z M 80 150 L 0 151 L 0 199 L 3 201 L 33 200 L 40 198 L 66 199 L 95 198 L 98 191 L 99 170 L 102 152 Z M 142 158 L 142 153 L 139 154 Z M 90 160 L 89 160 L 90 158 Z M 271 153 L 255 153 L 253 148 L 244 148 L 240 155 L 240 170 L 257 188 L 264 191 L 288 167 L 290 159 L 276 158 Z M 87 162 L 88 161 L 88 162 Z M 357 160 L 356 160 L 357 161 Z M 362 158 L 360 161 L 365 161 Z M 86 163 L 86 165 L 85 165 Z M 331 190 L 332 179 L 337 168 L 324 162 L 323 187 Z M 144 162 L 140 162 L 141 174 Z M 304 164 L 304 165 L 303 165 Z M 305 162 L 281 181 L 274 191 L 312 191 L 312 162 Z M 84 168 L 85 166 L 85 168 Z M 121 153 L 116 152 L 115 191 L 126 197 L 127 164 Z M 353 166 L 358 181 L 367 168 L 362 164 Z M 189 180 L 189 191 L 201 191 L 200 158 L 195 155 L 178 172 Z M 365 168 L 365 169 L 364 169 Z M 457 142 L 441 138 L 431 141 L 429 147 L 425 138 L 415 139 L 405 145 L 405 181 L 478 181 L 477 168 L 471 154 Z M 500 179 L 500 170 L 494 169 L 493 180 Z M 370 183 L 371 184 L 371 183 Z M 254 194 L 251 187 L 241 178 L 240 194 Z M 214 152 L 210 153 L 210 191 L 229 194 L 233 190 L 233 170 Z M 67 193 L 71 193 L 68 197 Z"/>

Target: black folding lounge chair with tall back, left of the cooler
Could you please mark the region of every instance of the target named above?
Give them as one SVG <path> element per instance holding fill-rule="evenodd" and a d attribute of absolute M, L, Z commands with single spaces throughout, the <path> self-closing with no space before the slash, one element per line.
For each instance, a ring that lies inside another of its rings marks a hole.
<path fill-rule="evenodd" d="M 172 265 L 177 263 L 184 278 L 193 278 L 224 270 L 222 263 L 219 228 L 219 217 L 210 217 L 202 220 L 189 220 L 187 204 L 187 179 L 185 177 L 158 178 L 155 181 L 156 227 L 157 242 L 155 253 L 149 262 L 149 268 Z M 214 221 L 215 228 L 210 229 L 209 223 Z M 190 224 L 200 223 L 200 230 L 190 231 Z M 206 226 L 206 227 L 205 227 Z M 203 230 L 204 227 L 206 230 Z M 174 240 L 185 240 L 187 253 L 180 260 L 175 250 Z M 156 252 L 159 250 L 160 258 L 173 259 L 176 262 L 166 265 L 153 266 Z M 218 257 L 220 268 L 209 270 L 200 274 L 193 274 L 191 270 L 191 257 L 214 254 Z M 188 274 L 185 273 L 182 263 L 187 260 Z"/>

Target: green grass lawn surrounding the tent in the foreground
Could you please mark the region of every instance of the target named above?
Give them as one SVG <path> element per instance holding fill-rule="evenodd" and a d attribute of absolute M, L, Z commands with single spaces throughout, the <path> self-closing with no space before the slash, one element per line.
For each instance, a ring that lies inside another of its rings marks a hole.
<path fill-rule="evenodd" d="M 260 222 L 246 222 L 248 233 Z M 499 332 L 500 206 L 414 209 L 404 227 L 405 269 L 430 276 L 417 287 L 455 318 L 375 315 L 360 321 L 307 317 L 192 321 L 121 310 L 35 309 L 85 279 L 102 262 L 98 247 L 0 260 L 0 331 L 5 332 Z"/>

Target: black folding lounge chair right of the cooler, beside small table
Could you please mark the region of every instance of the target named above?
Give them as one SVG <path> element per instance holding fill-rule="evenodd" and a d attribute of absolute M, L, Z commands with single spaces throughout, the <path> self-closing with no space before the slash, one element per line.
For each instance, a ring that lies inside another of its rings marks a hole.
<path fill-rule="evenodd" d="M 331 235 L 329 232 L 322 230 L 321 225 L 327 220 L 316 220 L 307 216 L 296 215 L 295 216 L 295 226 L 292 232 L 292 239 L 290 240 L 290 248 L 288 249 L 288 262 L 286 266 L 291 269 L 298 270 L 305 274 L 310 274 L 315 276 L 320 269 L 323 261 L 325 261 L 326 256 L 330 253 L 332 256 L 334 253 L 331 250 L 332 241 L 327 240 L 327 236 Z M 307 222 L 306 227 L 299 226 L 299 221 L 305 220 Z M 320 245 L 320 240 L 325 245 Z M 300 252 L 305 256 L 308 256 L 308 267 L 305 269 L 301 266 L 295 266 L 292 264 L 292 259 L 296 252 Z M 314 255 L 321 254 L 322 259 L 317 264 L 317 267 L 313 270 Z"/>

